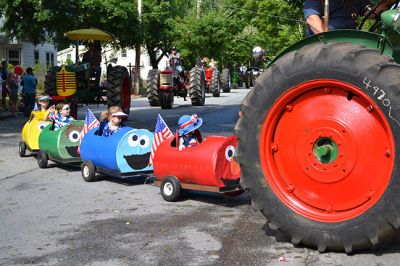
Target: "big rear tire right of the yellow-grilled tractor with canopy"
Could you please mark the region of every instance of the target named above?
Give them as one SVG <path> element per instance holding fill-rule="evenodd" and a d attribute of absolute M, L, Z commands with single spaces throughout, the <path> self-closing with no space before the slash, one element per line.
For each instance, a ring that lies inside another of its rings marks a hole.
<path fill-rule="evenodd" d="M 108 70 L 107 106 L 119 106 L 129 115 L 131 91 L 128 69 L 123 66 L 110 67 Z"/>

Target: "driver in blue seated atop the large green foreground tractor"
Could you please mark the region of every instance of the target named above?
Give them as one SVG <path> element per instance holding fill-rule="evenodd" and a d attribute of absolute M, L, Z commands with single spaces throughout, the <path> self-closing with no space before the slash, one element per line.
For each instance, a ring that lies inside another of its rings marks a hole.
<path fill-rule="evenodd" d="M 383 1 L 375 10 L 380 13 L 393 5 L 396 0 Z M 307 36 L 326 31 L 322 16 L 324 15 L 324 0 L 306 0 L 304 3 L 304 19 L 308 25 Z M 330 0 L 329 30 L 356 29 L 355 17 L 364 15 L 370 8 L 369 0 Z"/>

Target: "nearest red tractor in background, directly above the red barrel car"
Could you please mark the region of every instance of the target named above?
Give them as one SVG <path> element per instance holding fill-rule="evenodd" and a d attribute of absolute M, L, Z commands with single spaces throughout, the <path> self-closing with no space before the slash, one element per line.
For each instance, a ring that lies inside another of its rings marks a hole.
<path fill-rule="evenodd" d="M 152 69 L 147 76 L 147 98 L 150 106 L 171 109 L 174 95 L 186 98 L 189 94 L 193 106 L 203 106 L 206 85 L 204 72 L 194 67 L 189 72 L 174 71 L 174 68 L 160 71 Z"/>

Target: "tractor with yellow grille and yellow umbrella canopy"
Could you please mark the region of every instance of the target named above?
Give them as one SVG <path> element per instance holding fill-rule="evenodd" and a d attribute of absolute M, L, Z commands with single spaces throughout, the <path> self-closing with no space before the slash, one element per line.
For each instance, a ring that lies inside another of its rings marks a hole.
<path fill-rule="evenodd" d="M 66 33 L 71 40 L 112 41 L 113 36 L 97 29 L 81 29 Z M 124 66 L 107 67 L 107 85 L 100 87 L 98 77 L 90 63 L 52 67 L 46 75 L 44 92 L 54 103 L 70 102 L 72 116 L 77 116 L 78 103 L 106 103 L 108 107 L 119 106 L 129 114 L 131 82 Z M 106 98 L 107 100 L 104 100 Z"/>

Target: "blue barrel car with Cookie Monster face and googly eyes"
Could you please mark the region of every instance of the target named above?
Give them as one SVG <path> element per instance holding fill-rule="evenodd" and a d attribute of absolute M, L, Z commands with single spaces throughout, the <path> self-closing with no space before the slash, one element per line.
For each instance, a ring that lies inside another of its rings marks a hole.
<path fill-rule="evenodd" d="M 86 182 L 96 181 L 96 172 L 128 178 L 152 172 L 149 166 L 153 133 L 146 129 L 122 127 L 105 137 L 99 128 L 90 130 L 82 140 L 81 172 Z"/>

